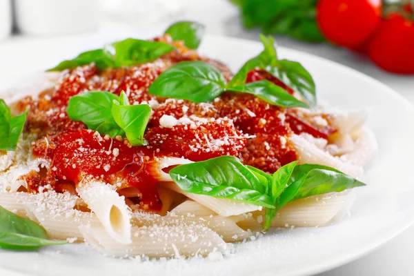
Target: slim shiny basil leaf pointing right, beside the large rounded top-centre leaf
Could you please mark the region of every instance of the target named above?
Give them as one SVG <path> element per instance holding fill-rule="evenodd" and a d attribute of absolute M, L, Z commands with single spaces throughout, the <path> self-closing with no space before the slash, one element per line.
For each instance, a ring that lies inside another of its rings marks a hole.
<path fill-rule="evenodd" d="M 244 86 L 234 86 L 229 88 L 234 92 L 245 92 L 260 99 L 267 101 L 275 106 L 283 106 L 286 108 L 300 107 L 309 108 L 309 106 L 303 101 L 299 101 L 292 95 L 290 95 L 284 88 L 276 86 L 274 83 L 264 79 L 262 81 L 255 81 L 252 83 L 246 83 Z"/>

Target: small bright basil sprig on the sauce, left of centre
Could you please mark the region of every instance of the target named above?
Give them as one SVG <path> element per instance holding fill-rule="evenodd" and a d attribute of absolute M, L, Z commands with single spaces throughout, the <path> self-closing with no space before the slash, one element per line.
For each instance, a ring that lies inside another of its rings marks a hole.
<path fill-rule="evenodd" d="M 110 92 L 90 91 L 70 98 L 66 112 L 70 119 L 82 121 L 101 135 L 119 135 L 128 138 L 132 146 L 141 146 L 151 108 L 148 104 L 130 105 L 124 91 L 119 97 Z"/>

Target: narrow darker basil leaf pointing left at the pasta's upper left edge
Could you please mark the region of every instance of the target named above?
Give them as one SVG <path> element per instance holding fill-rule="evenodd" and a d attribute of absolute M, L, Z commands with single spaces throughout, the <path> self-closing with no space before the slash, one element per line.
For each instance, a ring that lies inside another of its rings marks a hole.
<path fill-rule="evenodd" d="M 110 55 L 108 55 L 108 53 L 104 52 L 102 49 L 97 49 L 82 52 L 80 55 L 75 57 L 75 59 L 62 61 L 54 68 L 49 69 L 48 72 L 72 69 L 76 68 L 77 66 L 83 66 L 92 62 L 95 63 L 95 65 L 101 70 L 112 65 Z"/>

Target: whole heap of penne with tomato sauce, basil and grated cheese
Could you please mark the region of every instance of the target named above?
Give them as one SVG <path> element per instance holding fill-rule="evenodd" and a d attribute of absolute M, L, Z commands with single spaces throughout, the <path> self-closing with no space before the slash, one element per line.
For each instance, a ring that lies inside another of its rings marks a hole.
<path fill-rule="evenodd" d="M 197 52 L 202 30 L 83 52 L 0 101 L 0 248 L 222 257 L 348 213 L 377 150 L 366 111 L 318 103 L 271 37 L 233 73 Z"/>

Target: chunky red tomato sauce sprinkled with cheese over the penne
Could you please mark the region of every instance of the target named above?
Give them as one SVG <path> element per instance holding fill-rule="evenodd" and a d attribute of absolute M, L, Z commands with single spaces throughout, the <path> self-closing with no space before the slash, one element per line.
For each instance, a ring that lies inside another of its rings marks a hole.
<path fill-rule="evenodd" d="M 29 191 L 37 193 L 39 186 L 50 184 L 58 192 L 76 193 L 77 184 L 93 177 L 119 189 L 135 187 L 140 192 L 139 200 L 130 201 L 141 208 L 160 210 L 160 158 L 202 161 L 232 155 L 244 164 L 273 173 L 297 159 L 288 141 L 293 132 L 326 138 L 335 131 L 330 126 L 313 126 L 301 115 L 271 106 L 253 95 L 228 92 L 211 103 L 149 95 L 150 84 L 163 70 L 186 59 L 213 64 L 230 79 L 230 70 L 221 63 L 196 57 L 194 52 L 180 55 L 174 51 L 154 63 L 104 72 L 93 65 L 78 67 L 63 74 L 57 86 L 42 92 L 36 101 L 22 100 L 22 109 L 30 107 L 25 131 L 38 135 L 32 144 L 33 154 L 50 161 L 50 168 L 25 176 Z M 248 75 L 250 82 L 261 79 L 293 93 L 266 72 L 255 70 Z M 112 139 L 72 121 L 66 113 L 70 97 L 88 90 L 106 90 L 116 95 L 124 90 L 130 103 L 148 103 L 153 113 L 144 135 L 146 145 L 132 147 L 126 139 Z M 175 123 L 167 126 L 165 119 Z"/>

